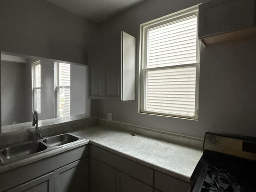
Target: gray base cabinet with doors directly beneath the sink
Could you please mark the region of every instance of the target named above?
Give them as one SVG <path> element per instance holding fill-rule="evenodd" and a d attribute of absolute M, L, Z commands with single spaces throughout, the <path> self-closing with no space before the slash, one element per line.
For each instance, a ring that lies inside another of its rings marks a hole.
<path fill-rule="evenodd" d="M 0 192 L 89 192 L 89 145 L 0 174 Z"/>

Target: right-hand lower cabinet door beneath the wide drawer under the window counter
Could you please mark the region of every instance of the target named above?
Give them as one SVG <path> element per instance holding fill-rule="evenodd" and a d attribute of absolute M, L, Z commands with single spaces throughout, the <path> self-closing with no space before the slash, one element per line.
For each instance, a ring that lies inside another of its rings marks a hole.
<path fill-rule="evenodd" d="M 153 188 L 124 174 L 116 172 L 116 191 L 117 192 L 153 192 Z"/>

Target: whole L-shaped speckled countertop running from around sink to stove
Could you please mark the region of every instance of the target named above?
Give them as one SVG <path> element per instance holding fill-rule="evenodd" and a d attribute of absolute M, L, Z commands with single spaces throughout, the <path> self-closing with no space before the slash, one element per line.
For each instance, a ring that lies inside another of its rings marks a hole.
<path fill-rule="evenodd" d="M 109 127 L 112 126 L 81 126 L 79 127 L 80 130 L 77 129 L 76 131 L 70 132 L 86 138 L 83 143 L 42 152 L 17 162 L 2 165 L 0 166 L 0 173 L 90 143 L 134 162 L 143 164 L 144 166 L 148 166 L 154 170 L 190 182 L 192 173 L 202 156 L 202 150 L 193 147 L 193 144 L 198 141 L 195 142 L 195 139 L 193 138 L 178 135 L 172 135 L 170 137 L 171 140 L 163 140 L 164 137 L 168 135 L 167 133 L 143 130 L 138 127 L 124 129 L 124 125 L 120 124 L 117 124 L 116 128 Z M 137 135 L 130 135 L 134 132 Z M 148 133 L 151 135 L 162 134 L 161 138 L 163 139 L 154 138 L 150 135 L 145 136 Z M 176 141 L 175 138 L 177 138 Z M 184 145 L 181 143 L 182 140 L 184 140 Z M 199 143 L 201 143 L 201 140 L 199 140 Z"/>

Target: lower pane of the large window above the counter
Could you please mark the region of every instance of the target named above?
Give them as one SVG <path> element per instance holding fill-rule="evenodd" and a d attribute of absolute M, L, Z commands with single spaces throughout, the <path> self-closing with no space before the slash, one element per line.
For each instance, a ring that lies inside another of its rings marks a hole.
<path fill-rule="evenodd" d="M 145 110 L 194 116 L 196 66 L 146 72 Z"/>

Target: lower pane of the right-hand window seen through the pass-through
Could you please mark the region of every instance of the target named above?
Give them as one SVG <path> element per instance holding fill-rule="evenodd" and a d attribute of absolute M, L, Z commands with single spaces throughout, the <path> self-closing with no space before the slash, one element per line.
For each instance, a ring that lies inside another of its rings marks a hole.
<path fill-rule="evenodd" d="M 58 117 L 70 116 L 70 88 L 58 88 Z"/>

